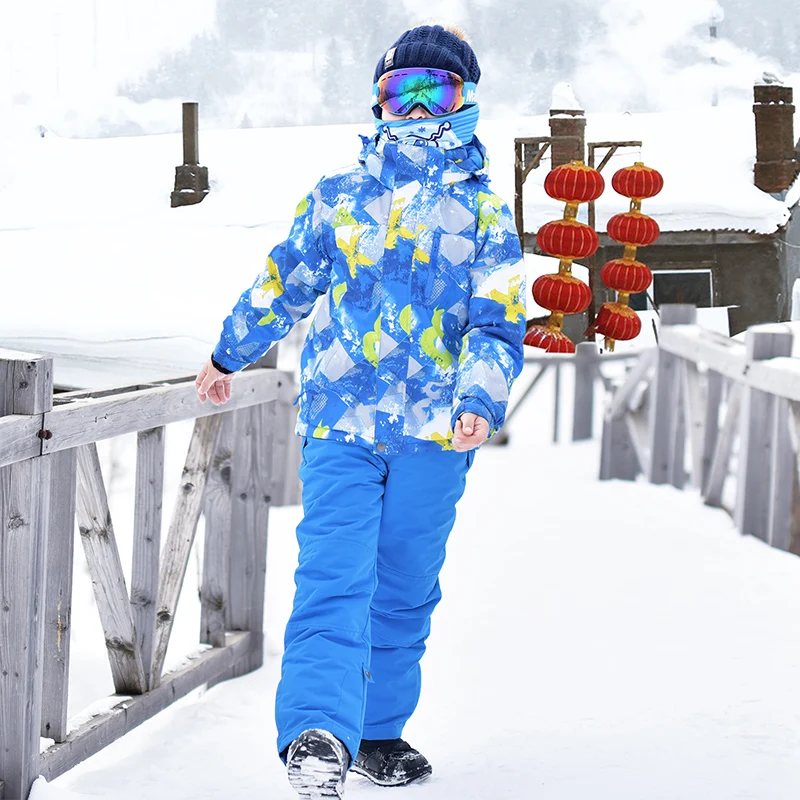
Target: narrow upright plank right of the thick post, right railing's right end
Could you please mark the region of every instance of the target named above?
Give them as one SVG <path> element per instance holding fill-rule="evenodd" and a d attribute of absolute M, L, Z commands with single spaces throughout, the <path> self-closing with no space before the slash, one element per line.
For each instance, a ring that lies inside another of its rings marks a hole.
<path fill-rule="evenodd" d="M 792 533 L 792 492 L 796 456 L 789 432 L 789 401 L 773 398 L 772 463 L 767 517 L 767 543 L 788 550 Z"/>

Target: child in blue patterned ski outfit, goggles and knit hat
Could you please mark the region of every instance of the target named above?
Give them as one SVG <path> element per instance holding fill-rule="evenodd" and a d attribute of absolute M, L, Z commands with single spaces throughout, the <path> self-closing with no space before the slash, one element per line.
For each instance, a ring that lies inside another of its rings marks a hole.
<path fill-rule="evenodd" d="M 276 697 L 278 752 L 304 798 L 348 768 L 431 772 L 402 738 L 438 575 L 475 448 L 522 367 L 519 240 L 474 137 L 480 69 L 463 34 L 404 33 L 375 71 L 377 134 L 323 178 L 225 320 L 197 378 L 224 403 L 321 302 L 302 355 L 304 517 Z"/>

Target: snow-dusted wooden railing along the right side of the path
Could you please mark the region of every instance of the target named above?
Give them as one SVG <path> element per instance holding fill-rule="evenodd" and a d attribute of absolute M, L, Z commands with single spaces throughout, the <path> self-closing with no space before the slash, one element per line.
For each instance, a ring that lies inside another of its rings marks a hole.
<path fill-rule="evenodd" d="M 800 553 L 792 327 L 757 325 L 742 342 L 695 320 L 693 306 L 662 307 L 658 347 L 642 354 L 607 408 L 600 477 L 691 483 L 707 505 L 728 508 L 742 533 Z M 729 477 L 735 492 L 726 503 Z"/>

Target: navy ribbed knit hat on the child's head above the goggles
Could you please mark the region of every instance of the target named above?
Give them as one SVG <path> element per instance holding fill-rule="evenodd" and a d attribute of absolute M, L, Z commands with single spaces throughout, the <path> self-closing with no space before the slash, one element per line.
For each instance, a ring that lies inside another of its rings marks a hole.
<path fill-rule="evenodd" d="M 421 25 L 406 31 L 381 56 L 373 83 L 377 83 L 384 72 L 405 67 L 448 70 L 468 83 L 481 79 L 481 68 L 472 48 L 441 25 Z"/>

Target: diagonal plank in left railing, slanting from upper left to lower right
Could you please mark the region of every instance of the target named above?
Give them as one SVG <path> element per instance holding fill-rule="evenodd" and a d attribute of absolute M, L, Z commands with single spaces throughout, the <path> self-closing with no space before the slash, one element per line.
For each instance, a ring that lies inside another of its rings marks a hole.
<path fill-rule="evenodd" d="M 94 444 L 78 448 L 78 530 L 92 576 L 108 660 L 118 694 L 147 691 L 142 654 Z"/>

